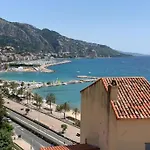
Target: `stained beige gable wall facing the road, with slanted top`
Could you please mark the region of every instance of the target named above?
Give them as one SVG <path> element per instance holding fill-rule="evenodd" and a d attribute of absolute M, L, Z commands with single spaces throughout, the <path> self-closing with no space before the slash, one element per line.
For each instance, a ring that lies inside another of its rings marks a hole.
<path fill-rule="evenodd" d="M 108 150 L 108 101 L 102 81 L 99 80 L 81 92 L 81 143 Z"/>

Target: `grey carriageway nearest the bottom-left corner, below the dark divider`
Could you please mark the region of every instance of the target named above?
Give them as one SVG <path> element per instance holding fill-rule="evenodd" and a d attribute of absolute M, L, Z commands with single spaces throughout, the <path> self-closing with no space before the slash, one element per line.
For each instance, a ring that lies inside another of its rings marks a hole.
<path fill-rule="evenodd" d="M 22 139 L 31 144 L 34 150 L 39 150 L 41 147 L 52 146 L 51 144 L 45 142 L 43 139 L 34 135 L 32 132 L 16 124 L 15 122 L 11 122 L 11 124 L 14 127 L 15 133 L 17 135 L 21 135 Z"/>

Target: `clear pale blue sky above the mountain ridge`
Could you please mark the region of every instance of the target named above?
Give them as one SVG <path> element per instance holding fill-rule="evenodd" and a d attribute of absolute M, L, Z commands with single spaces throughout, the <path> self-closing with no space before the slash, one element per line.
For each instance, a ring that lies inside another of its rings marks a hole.
<path fill-rule="evenodd" d="M 1 0 L 0 7 L 8 21 L 150 54 L 150 0 Z"/>

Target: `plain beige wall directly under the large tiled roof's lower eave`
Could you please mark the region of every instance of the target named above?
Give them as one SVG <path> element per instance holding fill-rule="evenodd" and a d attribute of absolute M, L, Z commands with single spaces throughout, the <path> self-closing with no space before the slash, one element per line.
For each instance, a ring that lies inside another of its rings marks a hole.
<path fill-rule="evenodd" d="M 117 150 L 145 150 L 150 143 L 150 120 L 117 121 Z"/>

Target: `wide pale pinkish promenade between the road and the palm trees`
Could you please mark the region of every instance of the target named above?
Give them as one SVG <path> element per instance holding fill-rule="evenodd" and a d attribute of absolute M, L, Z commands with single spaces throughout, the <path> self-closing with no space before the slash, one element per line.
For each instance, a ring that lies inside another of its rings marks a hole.
<path fill-rule="evenodd" d="M 9 102 L 9 104 L 7 102 Z M 9 100 L 9 99 L 5 99 L 4 105 L 8 108 L 11 108 L 12 110 L 15 110 L 15 111 L 21 113 L 21 114 L 25 114 L 25 111 L 21 110 L 21 108 L 24 108 L 24 109 L 27 108 L 19 103 Z M 61 125 L 65 124 L 64 122 L 62 122 L 58 119 L 55 119 L 53 117 L 50 117 L 48 115 L 45 115 L 45 114 L 43 114 L 39 111 L 33 110 L 33 109 L 28 113 L 27 116 L 31 119 L 38 120 L 39 122 L 49 126 L 49 128 L 51 128 L 52 130 L 54 130 L 56 132 L 61 132 L 62 131 Z M 72 139 L 76 142 L 80 142 L 80 137 L 76 136 L 77 133 L 80 133 L 79 128 L 76 128 L 72 125 L 67 124 L 67 130 L 66 130 L 64 136 L 66 136 L 69 139 Z"/>

